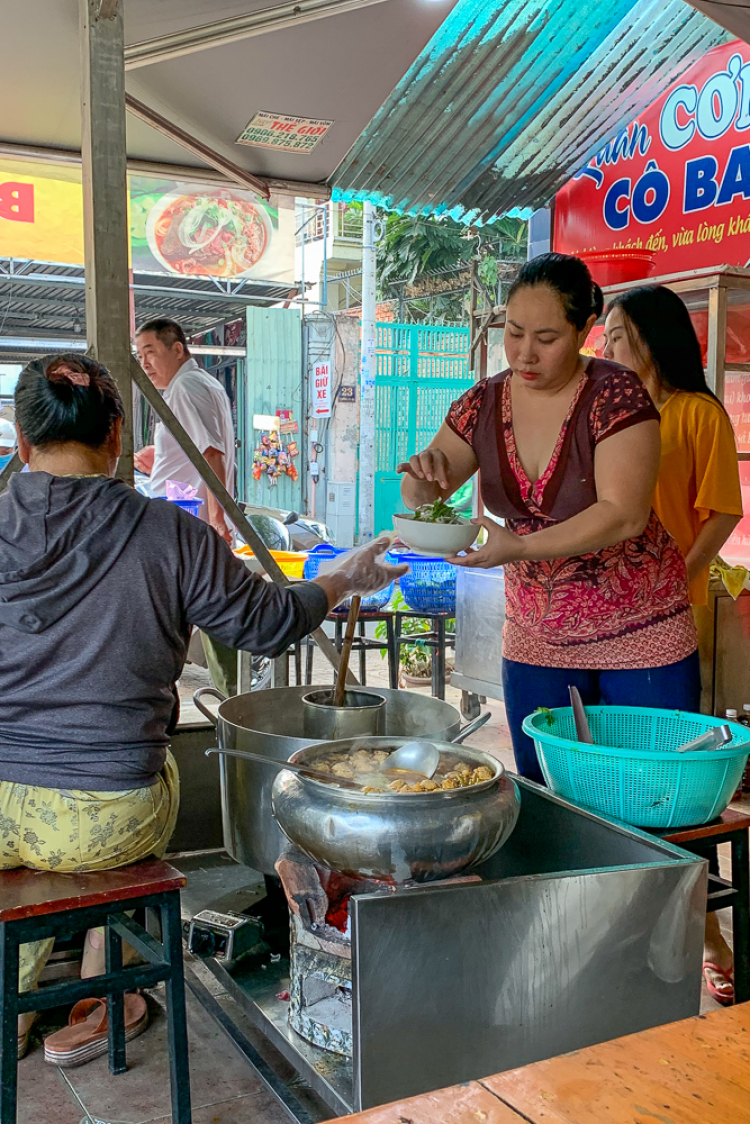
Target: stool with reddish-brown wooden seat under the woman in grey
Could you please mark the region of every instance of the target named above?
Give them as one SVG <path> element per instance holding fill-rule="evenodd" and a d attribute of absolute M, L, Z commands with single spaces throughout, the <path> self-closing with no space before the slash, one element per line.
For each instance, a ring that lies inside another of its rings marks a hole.
<path fill-rule="evenodd" d="M 17 1021 L 89 997 L 107 997 L 109 1071 L 124 1073 L 124 992 L 166 985 L 166 1022 L 173 1124 L 190 1124 L 190 1076 L 182 970 L 180 890 L 184 877 L 156 859 L 97 873 L 52 874 L 27 869 L 0 872 L 0 1124 L 16 1124 Z M 128 910 L 153 909 L 155 940 Z M 107 969 L 85 980 L 18 991 L 18 950 L 28 941 L 103 926 Z M 146 961 L 123 967 L 123 939 Z"/>

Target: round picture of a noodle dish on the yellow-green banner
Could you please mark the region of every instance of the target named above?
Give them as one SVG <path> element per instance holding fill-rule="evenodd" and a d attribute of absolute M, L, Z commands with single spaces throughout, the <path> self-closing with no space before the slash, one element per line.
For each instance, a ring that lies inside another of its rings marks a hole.
<path fill-rule="evenodd" d="M 182 277 L 246 277 L 272 234 L 271 218 L 257 200 L 226 191 L 163 196 L 146 220 L 152 254 Z"/>

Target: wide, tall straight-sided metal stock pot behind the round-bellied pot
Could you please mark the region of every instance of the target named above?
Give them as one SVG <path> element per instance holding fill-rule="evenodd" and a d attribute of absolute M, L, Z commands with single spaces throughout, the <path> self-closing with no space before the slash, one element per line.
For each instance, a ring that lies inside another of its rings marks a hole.
<path fill-rule="evenodd" d="M 219 749 L 247 750 L 274 761 L 289 761 L 292 753 L 316 741 L 305 737 L 302 695 L 325 689 L 331 688 L 277 687 L 227 699 L 213 687 L 205 687 L 196 691 L 193 699 L 217 727 Z M 380 687 L 373 694 L 386 699 L 386 734 L 390 736 L 423 735 L 448 742 L 461 728 L 459 711 L 450 703 Z M 201 703 L 206 696 L 220 700 L 216 715 Z M 275 874 L 273 864 L 286 845 L 271 808 L 275 771 L 237 758 L 222 758 L 219 768 L 224 845 L 237 862 L 263 874 Z"/>

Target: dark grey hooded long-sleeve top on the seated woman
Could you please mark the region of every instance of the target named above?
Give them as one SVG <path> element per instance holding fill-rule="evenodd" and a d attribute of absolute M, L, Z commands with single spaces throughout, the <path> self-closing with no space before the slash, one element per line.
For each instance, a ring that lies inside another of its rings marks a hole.
<path fill-rule="evenodd" d="M 17 473 L 0 496 L 0 781 L 155 781 L 198 625 L 278 655 L 327 598 L 251 574 L 205 523 L 106 478 Z"/>

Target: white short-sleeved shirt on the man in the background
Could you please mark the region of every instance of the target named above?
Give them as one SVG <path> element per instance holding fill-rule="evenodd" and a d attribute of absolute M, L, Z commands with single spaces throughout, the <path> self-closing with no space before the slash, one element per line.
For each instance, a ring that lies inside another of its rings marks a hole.
<path fill-rule="evenodd" d="M 164 391 L 164 401 L 188 430 L 201 453 L 217 448 L 224 454 L 226 489 L 234 495 L 234 423 L 224 387 L 198 366 L 195 359 L 182 364 Z M 202 499 L 201 518 L 208 522 L 208 492 L 198 470 L 192 466 L 162 422 L 154 436 L 154 468 L 151 487 L 154 496 L 166 495 L 166 481 L 179 480 L 198 489 Z"/>

